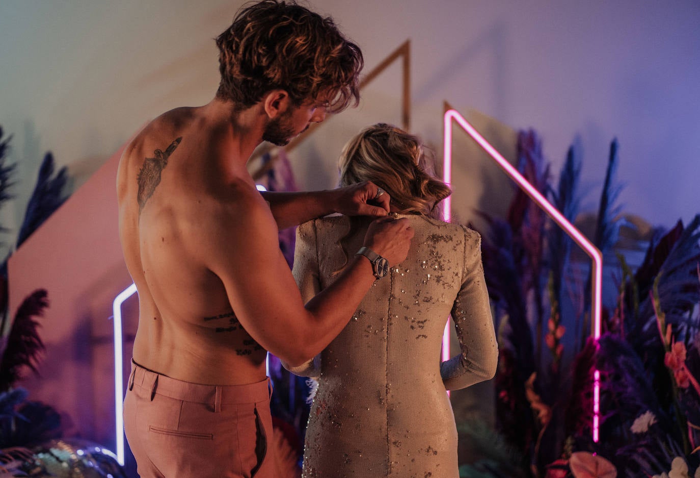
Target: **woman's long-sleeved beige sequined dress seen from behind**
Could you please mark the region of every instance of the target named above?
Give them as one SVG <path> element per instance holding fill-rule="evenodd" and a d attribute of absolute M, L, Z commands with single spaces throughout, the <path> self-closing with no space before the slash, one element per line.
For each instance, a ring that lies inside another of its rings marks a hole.
<path fill-rule="evenodd" d="M 480 237 L 457 224 L 409 217 L 409 256 L 374 282 L 349 324 L 313 361 L 291 369 L 318 380 L 304 444 L 304 478 L 457 478 L 457 432 L 446 389 L 484 381 L 498 348 Z M 347 239 L 362 245 L 367 224 Z M 335 280 L 346 217 L 297 229 L 294 275 L 304 300 Z M 353 258 L 350 257 L 350 260 Z M 440 363 L 455 319 L 461 353 Z"/>

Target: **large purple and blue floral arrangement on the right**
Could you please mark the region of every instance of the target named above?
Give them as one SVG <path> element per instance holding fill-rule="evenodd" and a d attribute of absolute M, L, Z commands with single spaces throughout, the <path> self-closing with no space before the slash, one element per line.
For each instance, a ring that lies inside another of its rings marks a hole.
<path fill-rule="evenodd" d="M 589 332 L 590 264 L 568 236 L 521 191 L 505 219 L 480 214 L 500 344 L 496 430 L 459 426 L 483 456 L 463 464 L 461 477 L 700 478 L 700 215 L 636 241 L 644 258 L 630 265 L 635 251 L 622 239 L 635 231 L 616 205 L 617 149 L 613 141 L 589 233 L 608 286 L 598 341 Z M 581 219 L 575 148 L 556 186 L 534 132 L 519 134 L 518 151 L 521 174 L 569 221 Z"/>

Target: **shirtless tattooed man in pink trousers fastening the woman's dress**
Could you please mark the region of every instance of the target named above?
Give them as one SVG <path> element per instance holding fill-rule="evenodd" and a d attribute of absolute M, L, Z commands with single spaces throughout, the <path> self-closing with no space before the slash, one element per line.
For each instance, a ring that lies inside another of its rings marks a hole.
<path fill-rule="evenodd" d="M 290 364 L 314 357 L 375 280 L 355 257 L 304 305 L 278 228 L 332 212 L 383 216 L 364 244 L 391 265 L 413 235 L 370 182 L 261 196 L 246 170 L 263 140 L 286 144 L 358 100 L 362 55 L 332 20 L 264 0 L 216 43 L 214 100 L 156 118 L 118 170 L 120 239 L 139 291 L 125 431 L 144 478 L 276 478 L 267 350 Z"/>

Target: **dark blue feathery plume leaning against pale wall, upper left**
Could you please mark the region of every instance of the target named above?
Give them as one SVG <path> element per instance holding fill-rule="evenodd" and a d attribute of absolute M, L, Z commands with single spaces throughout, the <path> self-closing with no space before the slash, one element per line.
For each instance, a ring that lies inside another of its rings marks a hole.
<path fill-rule="evenodd" d="M 46 153 L 39 168 L 34 192 L 31 193 L 25 219 L 22 221 L 17 238 L 17 247 L 29 238 L 29 235 L 43 224 L 55 210 L 66 200 L 64 188 L 68 181 L 68 169 L 64 166 L 54 176 L 55 163 L 53 155 Z"/>

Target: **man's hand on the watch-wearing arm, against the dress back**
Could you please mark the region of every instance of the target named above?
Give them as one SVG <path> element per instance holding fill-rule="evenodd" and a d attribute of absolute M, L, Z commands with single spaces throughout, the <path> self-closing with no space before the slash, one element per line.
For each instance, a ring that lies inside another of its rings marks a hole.
<path fill-rule="evenodd" d="M 367 228 L 363 245 L 384 257 L 389 266 L 395 266 L 406 259 L 413 235 L 408 219 L 380 217 Z"/>

